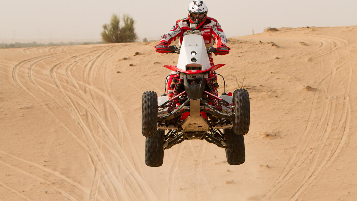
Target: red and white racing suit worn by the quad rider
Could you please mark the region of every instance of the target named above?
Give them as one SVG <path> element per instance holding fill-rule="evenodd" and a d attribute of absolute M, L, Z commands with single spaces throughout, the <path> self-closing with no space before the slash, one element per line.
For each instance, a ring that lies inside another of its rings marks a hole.
<path fill-rule="evenodd" d="M 221 25 L 218 23 L 218 21 L 213 19 L 212 17 L 207 17 L 205 22 L 200 27 L 197 27 L 197 29 L 200 30 L 201 35 L 203 36 L 203 40 L 205 41 L 206 48 L 213 47 L 214 41 L 216 41 L 217 47 L 221 45 L 227 46 L 226 34 L 223 32 Z M 180 42 L 178 43 L 178 46 L 181 47 L 183 36 L 189 30 L 191 30 L 191 28 L 190 28 L 190 20 L 188 19 L 188 17 L 177 20 L 176 25 L 174 25 L 174 27 L 172 27 L 172 29 L 169 32 L 165 33 L 161 37 L 160 43 L 166 42 L 168 45 L 170 45 L 172 41 L 175 41 L 178 38 L 180 38 Z M 212 54 L 208 55 L 208 58 L 210 59 L 211 66 L 213 66 Z M 169 76 L 169 78 L 166 80 L 167 93 L 169 94 L 170 98 L 172 96 L 173 90 L 169 89 L 169 85 L 172 82 L 174 74 L 176 74 L 176 72 L 172 71 L 170 73 L 171 76 Z M 212 76 L 216 76 L 216 75 L 212 75 Z"/>

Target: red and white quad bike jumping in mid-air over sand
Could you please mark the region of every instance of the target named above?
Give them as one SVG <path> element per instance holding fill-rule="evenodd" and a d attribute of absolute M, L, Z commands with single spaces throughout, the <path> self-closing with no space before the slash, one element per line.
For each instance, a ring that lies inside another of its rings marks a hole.
<path fill-rule="evenodd" d="M 197 30 L 183 36 L 181 49 L 169 48 L 170 53 L 180 54 L 177 66 L 164 65 L 177 72 L 169 87 L 172 94 L 157 96 L 154 91 L 146 91 L 142 95 L 146 165 L 161 166 L 164 150 L 185 140 L 206 140 L 226 150 L 228 164 L 244 163 L 243 135 L 250 123 L 247 90 L 237 89 L 233 94 L 224 92 L 218 96 L 219 74 L 215 70 L 225 64 L 210 65 L 208 54 L 216 53 L 216 49 L 206 49 Z"/>

